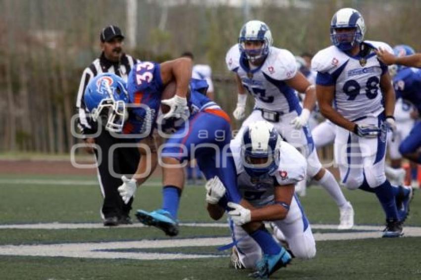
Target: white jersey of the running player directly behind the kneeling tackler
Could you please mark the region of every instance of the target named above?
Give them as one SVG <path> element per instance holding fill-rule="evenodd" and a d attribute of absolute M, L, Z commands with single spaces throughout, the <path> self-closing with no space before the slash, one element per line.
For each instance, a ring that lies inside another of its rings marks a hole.
<path fill-rule="evenodd" d="M 285 83 L 297 74 L 295 57 L 290 51 L 270 47 L 263 65 L 251 69 L 236 44 L 227 52 L 225 61 L 228 69 L 237 73 L 243 86 L 255 97 L 257 108 L 301 113 L 295 90 Z"/>

